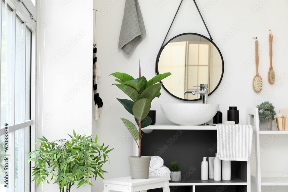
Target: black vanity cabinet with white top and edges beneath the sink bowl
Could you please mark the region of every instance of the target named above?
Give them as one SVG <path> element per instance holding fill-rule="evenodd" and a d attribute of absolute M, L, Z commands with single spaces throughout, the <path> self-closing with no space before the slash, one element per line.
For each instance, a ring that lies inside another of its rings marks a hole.
<path fill-rule="evenodd" d="M 208 161 L 217 152 L 215 126 L 154 125 L 142 130 L 151 129 L 143 135 L 141 154 L 162 157 L 168 168 L 172 161 L 181 166 L 181 181 L 169 181 L 170 192 L 250 192 L 250 162 L 232 161 L 230 181 L 201 180 L 203 157 Z"/>

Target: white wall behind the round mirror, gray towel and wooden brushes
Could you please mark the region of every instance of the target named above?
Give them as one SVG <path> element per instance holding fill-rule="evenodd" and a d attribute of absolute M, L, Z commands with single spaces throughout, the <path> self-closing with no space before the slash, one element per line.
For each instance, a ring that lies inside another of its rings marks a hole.
<path fill-rule="evenodd" d="M 139 1 L 147 37 L 143 39 L 130 57 L 117 49 L 125 1 L 102 0 L 95 3 L 97 8 L 98 64 L 102 72 L 102 78 L 98 81 L 98 90 L 103 99 L 105 111 L 101 112 L 101 121 L 92 121 L 92 132 L 94 135 L 98 134 L 100 142 L 115 147 L 120 145 L 121 139 L 128 134 L 128 130 L 120 118 L 132 120 L 132 117 L 119 102 L 115 101 L 115 97 L 126 98 L 126 96 L 120 95 L 119 89 L 111 86 L 115 78 L 109 77 L 109 74 L 125 72 L 137 77 L 140 58 L 141 75 L 145 75 L 147 79 L 155 75 L 156 56 L 180 0 Z M 280 108 L 288 107 L 286 76 L 288 73 L 288 55 L 286 54 L 288 2 L 285 0 L 204 0 L 197 1 L 197 3 L 198 7 L 203 9 L 202 16 L 224 59 L 225 70 L 222 82 L 217 91 L 209 96 L 209 101 L 220 104 L 223 121 L 227 120 L 229 106 L 238 106 L 240 123 L 245 123 L 245 109 L 255 107 L 257 102 L 259 104 L 262 100 L 272 102 L 277 112 Z M 107 10 L 105 11 L 105 9 Z M 198 12 L 193 1 L 183 1 L 166 40 L 186 32 L 199 33 L 208 37 L 202 20 L 197 16 Z M 274 85 L 270 85 L 267 79 L 270 64 L 269 29 L 274 35 L 273 68 L 276 73 Z M 258 37 L 259 40 L 259 74 L 263 79 L 263 89 L 259 94 L 255 93 L 252 87 L 253 77 L 256 74 L 255 61 L 253 60 L 255 47 L 252 37 Z M 248 60 L 251 60 L 251 64 L 247 64 Z M 161 92 L 160 99 L 154 100 L 151 109 L 156 110 L 157 124 L 169 124 L 170 122 L 164 117 L 158 104 L 161 102 L 181 103 L 183 101 L 171 97 L 164 90 Z M 130 174 L 127 157 L 132 154 L 131 143 L 132 139 L 130 138 L 117 150 L 111 152 L 110 165 L 104 166 L 109 172 L 105 178 Z M 278 152 L 281 153 L 282 151 L 278 150 Z M 271 159 L 269 155 L 267 158 Z M 287 162 L 287 160 L 283 161 Z M 264 162 L 268 163 L 267 161 Z M 263 165 L 264 172 L 266 167 L 268 164 Z M 280 165 L 276 170 L 279 168 Z M 102 180 L 96 180 L 92 189 L 97 192 L 102 191 Z"/>

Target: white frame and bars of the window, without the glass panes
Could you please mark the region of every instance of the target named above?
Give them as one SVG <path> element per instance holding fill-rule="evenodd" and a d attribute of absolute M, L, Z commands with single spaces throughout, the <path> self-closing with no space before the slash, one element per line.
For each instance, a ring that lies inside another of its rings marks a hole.
<path fill-rule="evenodd" d="M 15 136 L 14 133 L 16 130 L 20 130 L 22 128 L 26 128 L 31 126 L 31 151 L 35 150 L 35 146 L 33 144 L 35 143 L 35 138 L 36 138 L 36 128 L 35 128 L 35 111 L 36 111 L 36 34 L 37 34 L 37 10 L 36 10 L 36 3 L 37 0 L 35 0 L 35 5 L 32 3 L 31 0 L 1 0 L 4 2 L 7 2 L 7 4 L 12 8 L 12 34 L 14 33 L 15 35 L 15 25 L 16 25 L 16 16 L 18 16 L 23 22 L 23 35 L 26 32 L 26 27 L 30 29 L 31 31 L 31 119 L 26 120 L 24 118 L 25 122 L 18 123 L 15 125 L 15 117 L 14 117 L 14 125 L 9 126 L 9 133 L 12 135 L 12 146 L 9 146 L 9 149 L 12 150 L 14 148 L 15 150 L 15 145 L 13 142 L 15 142 Z M 1 2 L 1 9 L 0 9 L 0 26 L 2 26 L 2 2 Z M 1 39 L 1 31 L 0 30 L 0 39 Z M 13 32 L 14 31 L 14 32 Z M 25 32 L 24 32 L 25 31 Z M 16 37 L 15 37 L 16 38 Z M 14 41 L 12 39 L 12 42 L 15 43 L 15 38 Z M 15 63 L 15 50 L 14 50 L 14 63 Z M 0 61 L 1 61 L 1 44 L 0 44 Z M 0 69 L 1 70 L 1 69 Z M 1 72 L 1 71 L 0 71 Z M 1 77 L 1 73 L 0 73 Z M 1 83 L 1 78 L 0 78 L 0 83 Z M 14 81 L 15 83 L 15 81 Z M 15 94 L 14 94 L 15 96 Z M 34 102 L 33 102 L 34 101 Z M 25 102 L 26 103 L 26 102 Z M 15 105 L 14 105 L 15 107 Z M 15 116 L 15 115 L 14 115 Z M 4 135 L 4 129 L 0 129 L 0 136 Z M 22 136 L 24 135 L 25 137 L 25 132 L 24 134 L 22 133 Z M 11 158 L 10 161 L 11 168 L 13 170 L 14 168 L 14 158 Z M 31 162 L 31 167 L 35 166 L 34 162 Z M 23 171 L 24 172 L 24 171 Z M 32 172 L 32 169 L 31 169 Z M 21 176 L 24 176 L 22 174 Z M 32 176 L 30 175 L 31 180 Z M 13 179 L 11 179 L 11 183 L 9 183 L 10 186 L 13 186 L 10 188 L 12 192 L 14 192 L 14 176 Z M 30 191 L 35 192 L 36 191 L 36 185 L 33 183 L 30 183 Z M 25 191 L 26 192 L 26 191 Z"/>

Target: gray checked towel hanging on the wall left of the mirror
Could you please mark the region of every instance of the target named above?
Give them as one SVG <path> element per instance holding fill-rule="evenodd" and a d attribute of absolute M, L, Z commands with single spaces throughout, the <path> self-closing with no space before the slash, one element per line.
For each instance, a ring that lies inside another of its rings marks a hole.
<path fill-rule="evenodd" d="M 146 36 L 138 0 L 126 0 L 118 48 L 128 56 Z"/>

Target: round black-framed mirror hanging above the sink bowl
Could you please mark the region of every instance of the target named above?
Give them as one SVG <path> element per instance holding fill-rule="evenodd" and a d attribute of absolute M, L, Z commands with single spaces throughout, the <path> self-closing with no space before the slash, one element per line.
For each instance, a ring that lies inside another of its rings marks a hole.
<path fill-rule="evenodd" d="M 183 33 L 168 41 L 159 51 L 156 74 L 170 72 L 162 80 L 163 88 L 181 100 L 200 100 L 200 94 L 184 95 L 185 91 L 200 90 L 195 87 L 208 83 L 208 96 L 219 86 L 224 72 L 223 57 L 218 47 L 203 35 Z"/>

